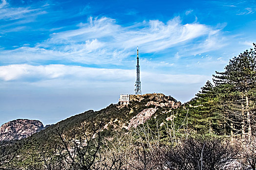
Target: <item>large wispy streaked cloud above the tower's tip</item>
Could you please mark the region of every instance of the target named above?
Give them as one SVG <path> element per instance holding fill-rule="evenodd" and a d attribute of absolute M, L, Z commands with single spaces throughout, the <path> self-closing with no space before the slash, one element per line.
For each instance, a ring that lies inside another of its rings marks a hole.
<path fill-rule="evenodd" d="M 181 49 L 187 56 L 194 54 L 194 51 L 221 48 L 223 43 L 219 32 L 199 23 L 183 25 L 179 17 L 167 23 L 149 20 L 127 27 L 117 24 L 112 18 L 90 17 L 77 29 L 51 34 L 49 39 L 32 48 L 1 51 L 0 57 L 5 56 L 5 64 L 41 64 L 40 61 L 64 59 L 84 64 L 122 65 L 137 45 L 143 53 L 189 47 L 189 51 Z M 190 42 L 194 39 L 196 41 L 192 47 Z"/>

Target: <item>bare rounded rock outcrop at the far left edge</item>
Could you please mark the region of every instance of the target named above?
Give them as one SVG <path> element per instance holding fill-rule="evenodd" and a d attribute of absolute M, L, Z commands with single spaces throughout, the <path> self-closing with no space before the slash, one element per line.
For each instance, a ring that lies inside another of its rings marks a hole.
<path fill-rule="evenodd" d="M 39 120 L 17 119 L 4 123 L 0 127 L 1 140 L 19 140 L 31 136 L 43 129 L 43 123 Z"/>

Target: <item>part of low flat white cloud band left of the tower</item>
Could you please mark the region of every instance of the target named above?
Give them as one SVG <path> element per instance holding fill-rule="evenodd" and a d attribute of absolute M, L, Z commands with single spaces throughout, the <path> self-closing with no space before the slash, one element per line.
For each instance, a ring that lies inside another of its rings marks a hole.
<path fill-rule="evenodd" d="M 32 66 L 28 64 L 0 66 L 0 79 L 4 81 L 41 81 L 71 76 L 74 78 L 94 79 L 94 81 L 105 81 L 131 77 L 133 70 L 85 68 L 81 66 L 45 65 Z M 33 80 L 35 79 L 35 80 Z"/>

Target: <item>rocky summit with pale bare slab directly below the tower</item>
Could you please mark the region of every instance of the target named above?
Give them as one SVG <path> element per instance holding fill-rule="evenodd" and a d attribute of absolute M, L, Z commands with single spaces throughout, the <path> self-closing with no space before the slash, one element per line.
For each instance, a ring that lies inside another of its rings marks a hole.
<path fill-rule="evenodd" d="M 129 104 L 119 102 L 113 106 L 118 109 L 115 111 L 117 114 L 111 112 L 111 115 L 109 115 L 111 119 L 104 128 L 125 128 L 129 130 L 130 128 L 136 128 L 138 125 L 144 124 L 147 120 L 151 119 L 153 115 L 156 119 L 158 119 L 157 116 L 159 115 L 161 115 L 161 117 L 167 117 L 167 113 L 181 106 L 181 102 L 176 101 L 171 96 L 165 96 L 162 93 L 151 93 L 129 95 Z M 107 115 L 108 114 L 105 114 L 105 116 Z"/>

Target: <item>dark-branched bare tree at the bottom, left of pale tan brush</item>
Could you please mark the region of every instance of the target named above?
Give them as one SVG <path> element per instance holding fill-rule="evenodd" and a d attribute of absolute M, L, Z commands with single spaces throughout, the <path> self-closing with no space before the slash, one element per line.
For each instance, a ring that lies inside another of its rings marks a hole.
<path fill-rule="evenodd" d="M 88 132 L 90 127 L 91 132 Z M 99 154 L 102 147 L 102 124 L 85 122 L 81 128 L 72 130 L 71 137 L 67 137 L 59 126 L 54 134 L 60 139 L 56 155 L 62 158 L 63 166 L 67 170 L 91 170 L 98 162 L 103 161 Z"/>

